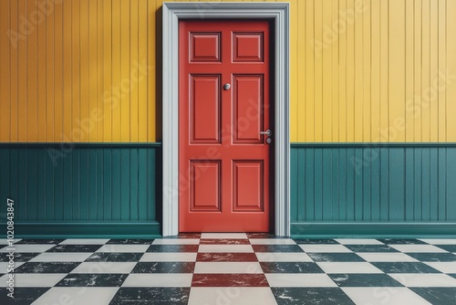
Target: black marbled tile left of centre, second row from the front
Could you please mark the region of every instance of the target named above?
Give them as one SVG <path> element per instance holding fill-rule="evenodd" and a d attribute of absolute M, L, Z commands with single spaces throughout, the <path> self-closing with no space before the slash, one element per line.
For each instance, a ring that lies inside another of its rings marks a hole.
<path fill-rule="evenodd" d="M 72 273 L 60 280 L 56 287 L 120 287 L 128 274 Z"/>

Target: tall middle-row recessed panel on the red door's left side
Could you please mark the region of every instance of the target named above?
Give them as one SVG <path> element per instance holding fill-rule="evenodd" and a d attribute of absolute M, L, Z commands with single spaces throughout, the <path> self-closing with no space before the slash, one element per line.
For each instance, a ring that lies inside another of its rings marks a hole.
<path fill-rule="evenodd" d="M 192 142 L 220 142 L 220 76 L 192 75 Z"/>

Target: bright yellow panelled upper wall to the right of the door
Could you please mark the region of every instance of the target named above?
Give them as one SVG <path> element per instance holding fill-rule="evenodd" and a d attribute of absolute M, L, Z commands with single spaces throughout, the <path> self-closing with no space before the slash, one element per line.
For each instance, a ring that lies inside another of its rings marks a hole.
<path fill-rule="evenodd" d="M 292 142 L 456 142 L 455 0 L 292 11 Z"/>

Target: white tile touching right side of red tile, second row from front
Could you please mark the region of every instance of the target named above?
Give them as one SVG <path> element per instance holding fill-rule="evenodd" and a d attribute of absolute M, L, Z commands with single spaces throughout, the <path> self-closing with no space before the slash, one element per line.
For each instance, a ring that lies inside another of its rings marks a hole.
<path fill-rule="evenodd" d="M 337 287 L 336 283 L 326 274 L 264 274 L 270 287 Z"/>

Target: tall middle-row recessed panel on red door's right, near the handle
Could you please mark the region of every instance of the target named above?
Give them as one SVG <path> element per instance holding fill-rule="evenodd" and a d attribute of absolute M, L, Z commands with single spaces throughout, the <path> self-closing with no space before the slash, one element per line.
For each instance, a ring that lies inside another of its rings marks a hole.
<path fill-rule="evenodd" d="M 263 76 L 235 75 L 233 83 L 233 141 L 262 143 Z"/>

